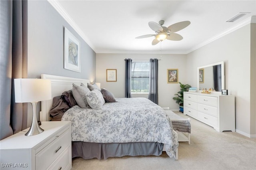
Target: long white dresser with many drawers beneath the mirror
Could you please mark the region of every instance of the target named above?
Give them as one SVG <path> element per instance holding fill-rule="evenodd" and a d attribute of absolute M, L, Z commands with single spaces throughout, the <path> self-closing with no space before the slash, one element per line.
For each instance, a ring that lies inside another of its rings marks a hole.
<path fill-rule="evenodd" d="M 218 132 L 235 132 L 235 96 L 184 92 L 184 115 L 189 115 Z"/>

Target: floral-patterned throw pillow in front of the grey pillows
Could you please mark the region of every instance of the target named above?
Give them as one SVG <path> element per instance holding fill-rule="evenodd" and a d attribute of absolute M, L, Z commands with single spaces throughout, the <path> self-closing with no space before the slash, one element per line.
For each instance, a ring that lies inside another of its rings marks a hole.
<path fill-rule="evenodd" d="M 86 93 L 86 100 L 92 109 L 102 109 L 105 99 L 98 89 Z"/>

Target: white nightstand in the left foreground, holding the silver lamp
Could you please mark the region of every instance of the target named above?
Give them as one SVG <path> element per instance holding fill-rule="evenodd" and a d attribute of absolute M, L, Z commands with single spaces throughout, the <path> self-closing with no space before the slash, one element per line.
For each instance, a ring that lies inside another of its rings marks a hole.
<path fill-rule="evenodd" d="M 71 122 L 42 122 L 44 132 L 25 136 L 28 129 L 0 140 L 1 170 L 70 170 Z"/>

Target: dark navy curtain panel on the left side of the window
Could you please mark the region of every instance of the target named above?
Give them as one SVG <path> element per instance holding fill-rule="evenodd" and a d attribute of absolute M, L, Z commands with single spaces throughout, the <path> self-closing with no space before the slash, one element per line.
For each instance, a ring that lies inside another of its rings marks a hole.
<path fill-rule="evenodd" d="M 125 59 L 125 97 L 132 97 L 131 93 L 131 70 L 132 70 L 132 59 Z"/>

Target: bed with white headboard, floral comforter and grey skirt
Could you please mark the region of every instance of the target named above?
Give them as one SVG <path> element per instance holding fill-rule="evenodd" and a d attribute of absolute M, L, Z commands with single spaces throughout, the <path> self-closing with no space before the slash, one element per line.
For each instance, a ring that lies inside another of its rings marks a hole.
<path fill-rule="evenodd" d="M 46 74 L 42 74 L 41 78 L 51 80 L 52 97 L 72 89 L 73 83 L 90 83 L 86 79 Z M 170 118 L 161 107 L 145 98 L 116 100 L 115 103 L 105 103 L 102 109 L 74 106 L 65 112 L 62 121 L 72 121 L 72 157 L 106 159 L 127 155 L 159 156 L 165 150 L 168 156 L 178 159 L 178 134 L 172 129 Z M 42 101 L 41 121 L 49 121 L 52 102 Z M 153 117 L 155 115 L 158 117 Z M 93 120 L 92 117 L 97 119 Z M 90 128 L 92 131 L 89 131 Z"/>

